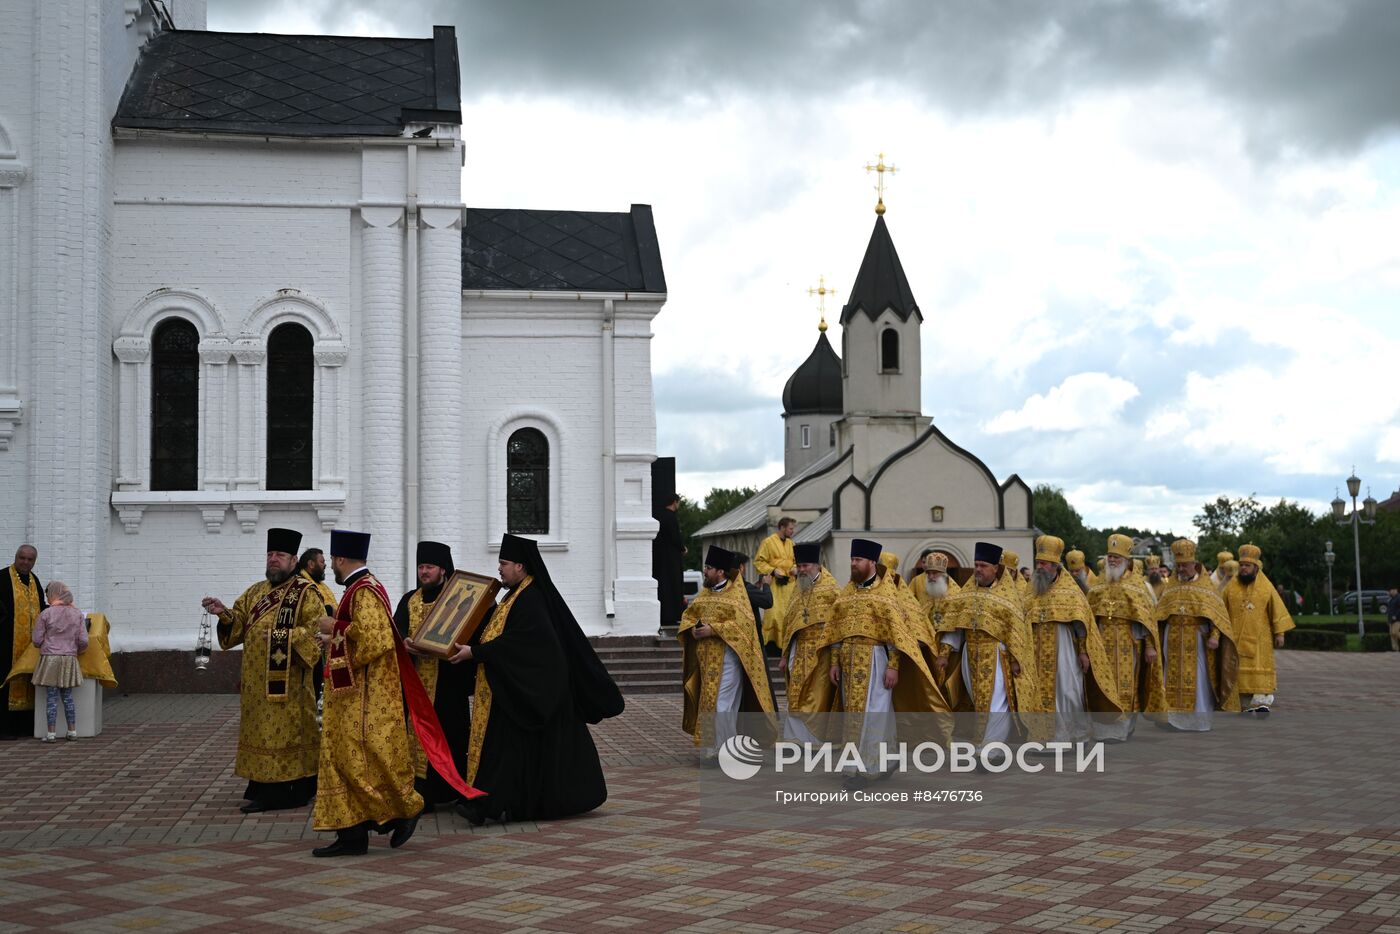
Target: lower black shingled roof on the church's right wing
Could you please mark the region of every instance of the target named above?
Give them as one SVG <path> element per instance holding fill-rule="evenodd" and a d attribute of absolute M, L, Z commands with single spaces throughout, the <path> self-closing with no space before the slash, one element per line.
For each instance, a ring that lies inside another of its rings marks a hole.
<path fill-rule="evenodd" d="M 651 206 L 627 213 L 468 207 L 462 288 L 664 293 Z"/>

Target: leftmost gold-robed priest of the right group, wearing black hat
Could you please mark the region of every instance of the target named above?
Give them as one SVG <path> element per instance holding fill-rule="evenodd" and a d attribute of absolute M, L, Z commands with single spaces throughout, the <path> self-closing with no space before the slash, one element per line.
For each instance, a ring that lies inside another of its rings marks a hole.
<path fill-rule="evenodd" d="M 680 615 L 676 632 L 683 651 L 680 728 L 706 759 L 714 759 L 738 731 L 741 713 L 762 711 L 776 725 L 777 711 L 753 606 L 734 555 L 711 545 L 701 574 L 704 587 Z"/>

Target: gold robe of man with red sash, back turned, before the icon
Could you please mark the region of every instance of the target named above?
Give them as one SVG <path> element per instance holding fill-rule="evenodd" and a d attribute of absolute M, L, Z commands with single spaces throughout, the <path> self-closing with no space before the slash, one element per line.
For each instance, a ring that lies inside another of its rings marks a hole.
<path fill-rule="evenodd" d="M 386 823 L 423 809 L 423 798 L 413 790 L 389 606 L 375 587 L 361 587 L 350 597 L 350 626 L 343 639 L 354 683 L 332 689 L 326 679 L 312 815 L 316 830 L 339 830 L 364 821 Z"/>

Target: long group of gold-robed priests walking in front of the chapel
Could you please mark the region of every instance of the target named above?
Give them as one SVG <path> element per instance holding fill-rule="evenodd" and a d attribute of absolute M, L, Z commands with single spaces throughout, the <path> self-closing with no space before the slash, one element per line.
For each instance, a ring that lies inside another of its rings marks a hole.
<path fill-rule="evenodd" d="M 1025 580 L 1018 555 L 979 542 L 973 576 L 959 587 L 941 552 L 925 552 L 904 581 L 895 555 L 854 539 L 841 587 L 822 567 L 818 543 L 794 548 L 771 536 L 764 548 L 774 539 L 787 553 L 766 562 L 797 588 L 767 613 L 774 622 L 766 632 L 755 623 L 738 556 L 718 546 L 706 553 L 704 588 L 678 636 L 682 727 L 711 760 L 736 737 L 741 713 L 777 731 L 763 660 L 763 641 L 774 641 L 788 685 L 781 735 L 855 744 L 853 760 L 865 765 L 846 769 L 847 788 L 889 777 L 869 763 L 883 762 L 881 746 L 910 721 L 917 739 L 946 745 L 956 737 L 1000 752 L 1124 742 L 1138 714 L 1177 731 L 1210 730 L 1217 710 L 1266 717 L 1277 689 L 1274 650 L 1294 627 L 1254 545 L 1240 546 L 1238 562 L 1222 552 L 1207 576 L 1187 539 L 1172 543 L 1173 567 L 1163 569 L 1134 559 L 1127 535 L 1110 535 L 1099 576 L 1082 552 L 1065 553 L 1061 539 L 1042 535 Z"/>

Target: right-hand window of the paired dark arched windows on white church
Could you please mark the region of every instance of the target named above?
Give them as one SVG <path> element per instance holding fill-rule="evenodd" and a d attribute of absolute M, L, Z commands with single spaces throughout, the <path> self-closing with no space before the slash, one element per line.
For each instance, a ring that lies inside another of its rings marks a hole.
<path fill-rule="evenodd" d="M 312 487 L 316 361 L 311 332 L 279 325 L 267 339 L 267 489 Z"/>

